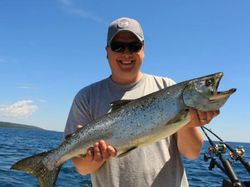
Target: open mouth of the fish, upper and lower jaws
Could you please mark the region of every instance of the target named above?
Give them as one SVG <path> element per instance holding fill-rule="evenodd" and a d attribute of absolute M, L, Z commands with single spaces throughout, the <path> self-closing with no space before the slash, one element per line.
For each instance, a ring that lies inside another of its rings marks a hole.
<path fill-rule="evenodd" d="M 222 77 L 223 77 L 222 72 L 214 74 L 214 85 L 213 85 L 213 91 L 211 92 L 211 96 L 209 97 L 210 101 L 216 101 L 219 99 L 227 98 L 236 91 L 236 88 L 231 88 L 227 91 L 218 91 L 218 87 Z"/>

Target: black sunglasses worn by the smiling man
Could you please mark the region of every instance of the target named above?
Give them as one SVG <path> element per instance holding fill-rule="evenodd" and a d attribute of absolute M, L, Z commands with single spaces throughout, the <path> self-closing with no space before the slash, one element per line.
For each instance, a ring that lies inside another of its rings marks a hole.
<path fill-rule="evenodd" d="M 113 41 L 110 43 L 111 50 L 117 53 L 123 53 L 126 49 L 128 49 L 130 53 L 138 52 L 142 46 L 143 42 L 140 41 L 130 43 Z"/>

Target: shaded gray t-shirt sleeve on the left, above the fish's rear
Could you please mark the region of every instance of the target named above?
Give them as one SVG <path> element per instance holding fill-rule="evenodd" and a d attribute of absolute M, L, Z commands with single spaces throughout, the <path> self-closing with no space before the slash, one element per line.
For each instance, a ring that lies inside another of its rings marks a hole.
<path fill-rule="evenodd" d="M 91 121 L 88 98 L 87 89 L 81 90 L 75 96 L 64 129 L 64 137 L 74 133 L 77 125 L 84 126 Z"/>

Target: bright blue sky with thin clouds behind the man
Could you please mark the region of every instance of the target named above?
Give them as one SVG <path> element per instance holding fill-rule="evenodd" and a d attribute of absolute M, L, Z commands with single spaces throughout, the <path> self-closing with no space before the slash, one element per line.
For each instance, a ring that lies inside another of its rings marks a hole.
<path fill-rule="evenodd" d="M 250 1 L 1 0 L 0 121 L 63 131 L 75 94 L 110 75 L 105 43 L 118 17 L 141 22 L 146 73 L 177 82 L 224 72 L 237 88 L 209 128 L 250 142 Z"/>

